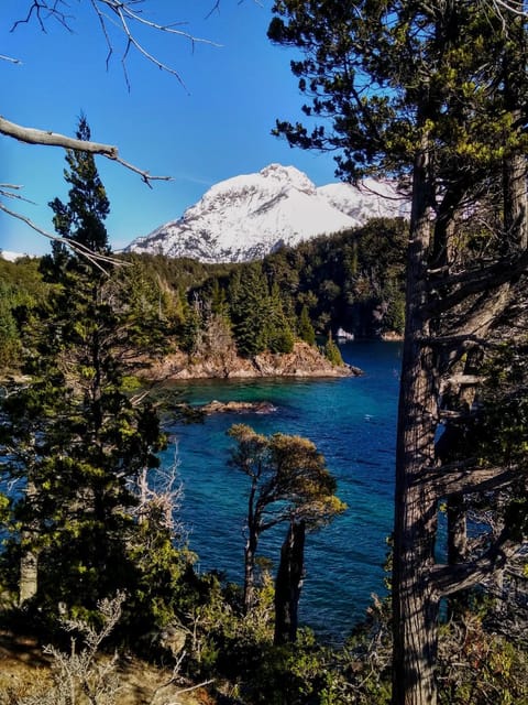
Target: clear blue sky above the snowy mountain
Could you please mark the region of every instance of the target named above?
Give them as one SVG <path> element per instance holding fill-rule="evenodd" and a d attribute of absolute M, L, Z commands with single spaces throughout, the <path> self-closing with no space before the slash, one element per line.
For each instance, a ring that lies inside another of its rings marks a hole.
<path fill-rule="evenodd" d="M 30 4 L 1 0 L 0 54 L 22 64 L 0 61 L 0 113 L 20 124 L 73 134 L 85 112 L 94 140 L 117 144 L 122 159 L 152 174 L 173 177 L 151 189 L 138 175 L 98 158 L 114 249 L 178 218 L 212 184 L 272 162 L 297 166 L 317 185 L 336 181 L 331 155 L 293 150 L 270 133 L 275 118 L 298 119 L 301 102 L 289 70 L 294 54 L 266 37 L 271 0 L 221 0 L 210 17 L 215 0 L 145 0 L 143 11 L 153 19 L 185 22 L 182 30 L 221 46 L 193 46 L 182 37 L 143 32 L 145 46 L 179 72 L 185 87 L 131 51 L 130 90 L 121 67 L 123 40 L 114 36 L 107 70 L 105 39 L 87 0 L 68 2 L 72 33 L 52 21 L 45 33 L 34 21 L 10 32 Z M 8 205 L 53 231 L 47 203 L 55 196 L 67 199 L 64 151 L 4 137 L 0 150 L 0 182 L 23 186 L 21 193 L 32 202 Z M 0 214 L 0 248 L 41 254 L 50 243 Z"/>

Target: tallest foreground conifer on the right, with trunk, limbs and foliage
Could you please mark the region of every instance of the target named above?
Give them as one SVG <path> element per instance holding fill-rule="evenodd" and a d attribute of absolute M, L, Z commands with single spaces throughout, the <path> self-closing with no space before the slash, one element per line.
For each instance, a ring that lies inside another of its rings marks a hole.
<path fill-rule="evenodd" d="M 505 530 L 480 556 L 457 565 L 438 565 L 435 551 L 439 500 L 474 494 L 485 476 L 471 458 L 442 464 L 437 455 L 443 420 L 451 414 L 464 423 L 460 409 L 444 405 L 444 392 L 474 384 L 475 360 L 506 313 L 515 315 L 526 286 L 518 281 L 528 267 L 520 118 L 527 25 L 513 4 L 278 0 L 268 31 L 304 53 L 292 68 L 306 121 L 277 121 L 276 133 L 304 149 L 336 150 L 344 178 L 399 175 L 409 186 L 394 705 L 435 705 L 442 597 L 501 570 L 517 545 Z M 495 468 L 487 486 L 499 485 L 504 473 Z"/>

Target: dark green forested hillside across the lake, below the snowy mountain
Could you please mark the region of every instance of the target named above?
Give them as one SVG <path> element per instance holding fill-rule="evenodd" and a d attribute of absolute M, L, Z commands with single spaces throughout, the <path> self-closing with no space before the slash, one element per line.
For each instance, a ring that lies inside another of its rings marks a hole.
<path fill-rule="evenodd" d="M 284 248 L 262 262 L 201 264 L 120 256 L 117 262 L 123 264 L 112 279 L 130 288 L 136 325 L 141 319 L 145 329 L 150 326 L 153 339 L 163 335 L 165 358 L 179 350 L 188 368 L 201 362 L 217 369 L 211 376 L 221 376 L 229 358 L 233 370 L 240 367 L 251 376 L 243 360 L 263 352 L 290 354 L 296 339 L 316 346 L 340 367 L 332 344 L 339 328 L 358 339 L 400 336 L 404 260 L 405 223 L 373 220 L 351 232 Z M 42 304 L 51 284 L 36 259 L 0 259 L 0 368 L 9 369 L 20 361 L 16 316 Z M 153 345 L 151 362 L 160 352 Z M 184 360 L 178 357 L 178 369 Z M 299 355 L 297 362 L 298 375 L 304 367 L 308 376 L 317 372 L 317 360 L 305 362 Z M 339 373 L 322 359 L 320 368 L 321 376 Z M 254 375 L 261 373 L 255 367 Z M 279 364 L 272 373 L 280 373 Z"/>

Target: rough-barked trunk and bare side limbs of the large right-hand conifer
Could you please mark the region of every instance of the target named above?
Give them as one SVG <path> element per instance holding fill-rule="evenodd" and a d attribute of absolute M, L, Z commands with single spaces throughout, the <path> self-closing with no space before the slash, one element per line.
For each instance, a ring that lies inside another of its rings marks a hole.
<path fill-rule="evenodd" d="M 475 458 L 442 464 L 436 446 L 441 415 L 457 414 L 455 409 L 442 409 L 442 392 L 451 386 L 457 390 L 452 400 L 471 406 L 482 381 L 482 346 L 526 274 L 526 158 L 513 155 L 504 169 L 508 215 L 493 260 L 484 259 L 477 267 L 476 262 L 461 264 L 459 258 L 453 267 L 452 224 L 449 218 L 443 223 L 438 213 L 435 223 L 428 213 L 427 141 L 415 164 L 396 459 L 394 705 L 436 704 L 440 599 L 497 574 L 518 547 L 505 527 L 482 555 L 468 557 L 463 505 L 468 494 L 507 487 L 515 469 L 481 468 Z M 463 187 L 453 194 L 459 208 L 462 195 Z M 455 214 L 453 208 L 451 218 Z M 458 423 L 463 423 L 463 413 Z M 440 500 L 450 508 L 444 566 L 435 561 Z"/>

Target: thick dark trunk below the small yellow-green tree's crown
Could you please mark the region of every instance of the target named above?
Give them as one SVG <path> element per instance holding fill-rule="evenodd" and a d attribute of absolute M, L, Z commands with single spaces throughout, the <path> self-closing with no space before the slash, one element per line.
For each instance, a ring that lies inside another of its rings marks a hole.
<path fill-rule="evenodd" d="M 304 521 L 292 522 L 280 549 L 280 563 L 275 581 L 275 644 L 295 642 L 297 639 L 305 534 Z"/>

